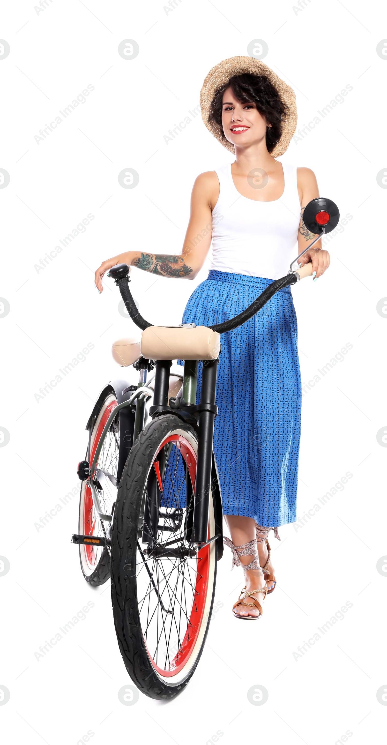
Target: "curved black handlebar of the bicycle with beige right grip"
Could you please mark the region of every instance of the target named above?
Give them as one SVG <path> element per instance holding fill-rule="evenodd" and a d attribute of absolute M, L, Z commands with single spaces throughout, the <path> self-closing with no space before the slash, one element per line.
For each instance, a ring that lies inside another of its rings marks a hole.
<path fill-rule="evenodd" d="M 306 267 L 308 267 L 308 269 L 305 271 Z M 310 264 L 310 267 L 309 264 L 306 264 L 302 270 L 286 274 L 286 276 L 274 280 L 274 282 L 271 282 L 271 285 L 269 285 L 257 297 L 257 299 L 248 306 L 248 308 L 245 308 L 245 311 L 242 311 L 242 313 L 239 313 L 234 318 L 230 318 L 230 320 L 224 321 L 223 323 L 212 324 L 208 328 L 213 329 L 213 331 L 218 332 L 218 334 L 224 334 L 227 331 L 233 331 L 233 329 L 236 329 L 238 326 L 242 326 L 242 323 L 245 323 L 260 311 L 261 308 L 263 308 L 263 305 L 265 305 L 265 303 L 268 302 L 276 292 L 282 290 L 282 288 L 287 287 L 288 285 L 295 285 L 295 283 L 298 282 L 298 279 L 300 279 L 300 276 L 306 276 L 307 274 L 312 273 L 311 267 L 312 264 Z M 148 329 L 148 326 L 154 326 L 153 323 L 149 323 L 145 318 L 142 318 L 142 315 L 136 308 L 128 285 L 128 282 L 130 282 L 128 265 L 117 264 L 109 270 L 107 276 L 113 277 L 116 285 L 118 285 L 122 299 L 125 302 L 125 308 L 127 309 L 130 318 L 134 323 L 136 323 L 136 326 L 138 326 L 142 331 Z"/>

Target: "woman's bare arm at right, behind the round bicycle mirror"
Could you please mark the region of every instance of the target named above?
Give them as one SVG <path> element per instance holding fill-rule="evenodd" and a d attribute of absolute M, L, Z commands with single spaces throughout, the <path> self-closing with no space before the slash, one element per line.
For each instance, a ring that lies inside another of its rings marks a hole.
<path fill-rule="evenodd" d="M 310 168 L 298 168 L 297 169 L 297 184 L 298 194 L 300 195 L 301 201 L 301 221 L 298 229 L 298 253 L 301 253 L 312 241 L 317 238 L 315 233 L 309 232 L 306 226 L 303 224 L 303 210 L 306 205 L 312 200 L 316 199 L 318 194 L 318 186 L 315 174 Z M 321 240 L 317 241 L 310 251 L 301 256 L 300 264 L 309 264 L 312 261 L 312 270 L 315 272 L 315 279 L 324 274 L 324 271 L 330 265 L 330 255 L 327 251 L 321 248 Z"/>

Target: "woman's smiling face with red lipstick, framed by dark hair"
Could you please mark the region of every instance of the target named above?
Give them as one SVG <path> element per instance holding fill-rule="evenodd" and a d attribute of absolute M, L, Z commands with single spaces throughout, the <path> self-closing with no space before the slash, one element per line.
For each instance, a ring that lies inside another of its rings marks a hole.
<path fill-rule="evenodd" d="M 241 104 L 231 88 L 227 88 L 223 94 L 221 124 L 224 136 L 233 145 L 254 145 L 266 136 L 265 117 L 259 113 L 254 102 Z"/>

